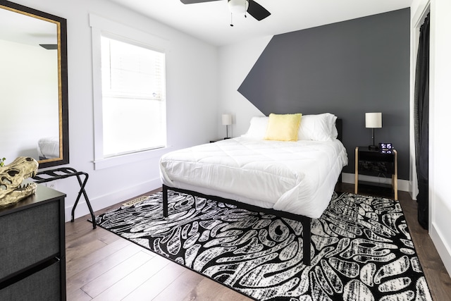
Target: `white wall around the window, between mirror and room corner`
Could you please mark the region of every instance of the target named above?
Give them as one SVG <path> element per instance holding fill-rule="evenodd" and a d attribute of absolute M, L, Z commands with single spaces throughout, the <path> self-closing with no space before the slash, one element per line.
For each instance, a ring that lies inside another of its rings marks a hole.
<path fill-rule="evenodd" d="M 89 173 L 87 195 L 94 210 L 159 188 L 161 152 L 142 161 L 94 170 L 92 48 L 89 13 L 109 18 L 171 42 L 166 55 L 168 145 L 178 149 L 216 137 L 217 49 L 138 13 L 105 0 L 16 0 L 68 20 L 68 99 L 70 164 Z M 66 192 L 66 220 L 78 193 L 75 178 L 58 180 Z M 87 214 L 84 199 L 75 212 Z"/>

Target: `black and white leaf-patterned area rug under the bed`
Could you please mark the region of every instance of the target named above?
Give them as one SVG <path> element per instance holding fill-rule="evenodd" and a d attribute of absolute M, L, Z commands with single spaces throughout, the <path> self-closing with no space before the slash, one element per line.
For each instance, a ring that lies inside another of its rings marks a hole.
<path fill-rule="evenodd" d="M 168 192 L 97 217 L 102 228 L 254 300 L 432 300 L 400 203 L 333 195 L 311 225 L 211 199 Z M 140 199 L 141 200 L 141 199 Z"/>

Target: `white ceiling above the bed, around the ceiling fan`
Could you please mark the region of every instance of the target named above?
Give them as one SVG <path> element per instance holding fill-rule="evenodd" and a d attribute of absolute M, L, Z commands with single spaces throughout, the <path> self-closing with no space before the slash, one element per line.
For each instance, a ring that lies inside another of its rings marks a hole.
<path fill-rule="evenodd" d="M 183 4 L 180 0 L 109 0 L 180 31 L 222 46 L 409 7 L 412 0 L 256 0 L 271 16 L 257 21 L 233 15 L 227 0 Z"/>

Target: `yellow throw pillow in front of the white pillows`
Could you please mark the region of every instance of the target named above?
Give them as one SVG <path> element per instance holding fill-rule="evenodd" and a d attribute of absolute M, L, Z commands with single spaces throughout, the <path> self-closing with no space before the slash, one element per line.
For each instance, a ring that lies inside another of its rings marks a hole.
<path fill-rule="evenodd" d="M 297 141 L 302 113 L 269 114 L 265 140 Z"/>

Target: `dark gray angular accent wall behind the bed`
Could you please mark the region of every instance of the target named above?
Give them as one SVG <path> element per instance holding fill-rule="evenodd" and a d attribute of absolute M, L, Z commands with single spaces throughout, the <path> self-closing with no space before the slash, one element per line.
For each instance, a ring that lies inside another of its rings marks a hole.
<path fill-rule="evenodd" d="M 276 35 L 238 88 L 262 113 L 334 113 L 354 149 L 371 145 L 366 112 L 382 112 L 375 142 L 392 142 L 409 179 L 410 9 Z"/>

